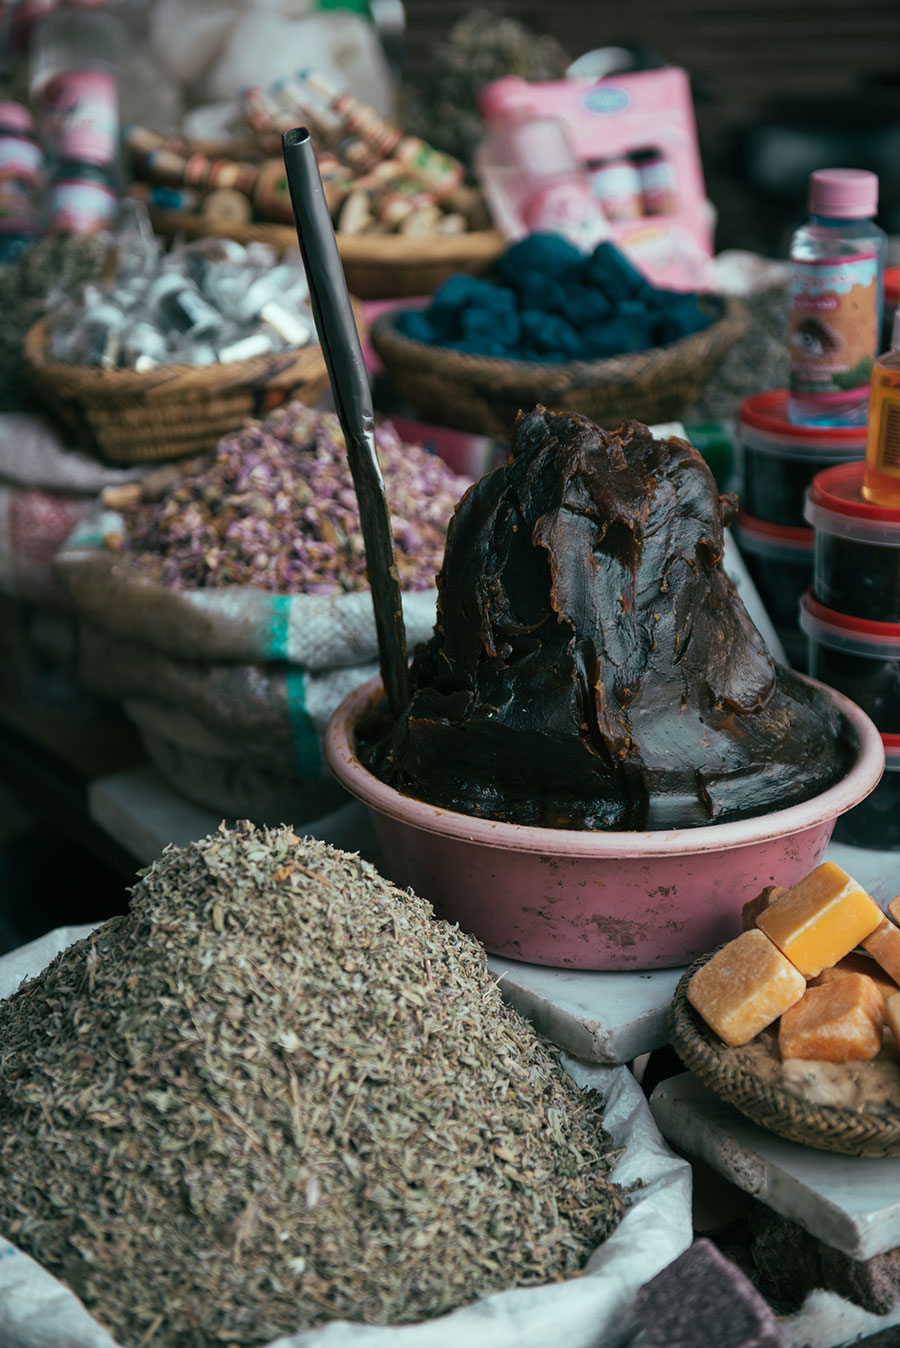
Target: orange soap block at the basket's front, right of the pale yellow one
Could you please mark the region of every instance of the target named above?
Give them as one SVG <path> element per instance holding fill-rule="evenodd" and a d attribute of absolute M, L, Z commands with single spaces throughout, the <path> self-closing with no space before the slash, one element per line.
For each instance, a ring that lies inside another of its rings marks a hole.
<path fill-rule="evenodd" d="M 854 1062 L 881 1051 L 884 1002 L 865 973 L 808 988 L 781 1016 L 781 1058 Z"/>

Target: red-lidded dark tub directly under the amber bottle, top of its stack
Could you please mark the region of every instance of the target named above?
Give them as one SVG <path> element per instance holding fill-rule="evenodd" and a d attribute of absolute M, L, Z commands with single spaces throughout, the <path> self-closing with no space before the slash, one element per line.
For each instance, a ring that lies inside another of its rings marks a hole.
<path fill-rule="evenodd" d="M 862 500 L 862 469 L 838 464 L 812 480 L 812 593 L 851 617 L 900 623 L 900 510 Z"/>

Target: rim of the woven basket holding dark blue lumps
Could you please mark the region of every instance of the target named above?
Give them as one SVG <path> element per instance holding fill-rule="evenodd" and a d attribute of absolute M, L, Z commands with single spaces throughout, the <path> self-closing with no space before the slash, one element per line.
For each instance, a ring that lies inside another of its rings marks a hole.
<path fill-rule="evenodd" d="M 410 369 L 431 371 L 439 367 L 446 379 L 476 379 L 481 383 L 493 381 L 497 390 L 531 388 L 540 383 L 542 390 L 558 395 L 567 390 L 594 388 L 616 390 L 635 387 L 643 380 L 676 377 L 695 371 L 701 360 L 711 360 L 724 355 L 746 330 L 748 311 L 733 298 L 722 295 L 705 297 L 715 306 L 719 317 L 702 332 L 680 337 L 668 346 L 651 346 L 647 350 L 625 352 L 618 356 L 605 356 L 598 360 L 550 361 L 513 360 L 501 356 L 477 356 L 470 352 L 454 350 L 449 346 L 430 345 L 397 332 L 397 315 L 404 310 L 380 314 L 372 324 L 372 346 L 389 368 L 406 364 Z"/>

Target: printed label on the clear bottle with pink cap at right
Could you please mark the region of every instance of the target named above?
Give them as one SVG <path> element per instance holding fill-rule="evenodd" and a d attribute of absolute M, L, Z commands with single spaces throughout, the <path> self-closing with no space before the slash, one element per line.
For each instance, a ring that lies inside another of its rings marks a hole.
<path fill-rule="evenodd" d="M 874 253 L 791 264 L 791 392 L 823 407 L 868 396 L 878 355 Z"/>

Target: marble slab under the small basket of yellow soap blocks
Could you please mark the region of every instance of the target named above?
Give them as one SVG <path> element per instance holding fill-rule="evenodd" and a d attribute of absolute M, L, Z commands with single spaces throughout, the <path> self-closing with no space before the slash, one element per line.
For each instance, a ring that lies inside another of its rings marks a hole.
<path fill-rule="evenodd" d="M 663 1136 L 767 1206 L 853 1259 L 900 1246 L 900 1157 L 843 1157 L 768 1132 L 693 1073 L 660 1082 L 651 1112 Z"/>

